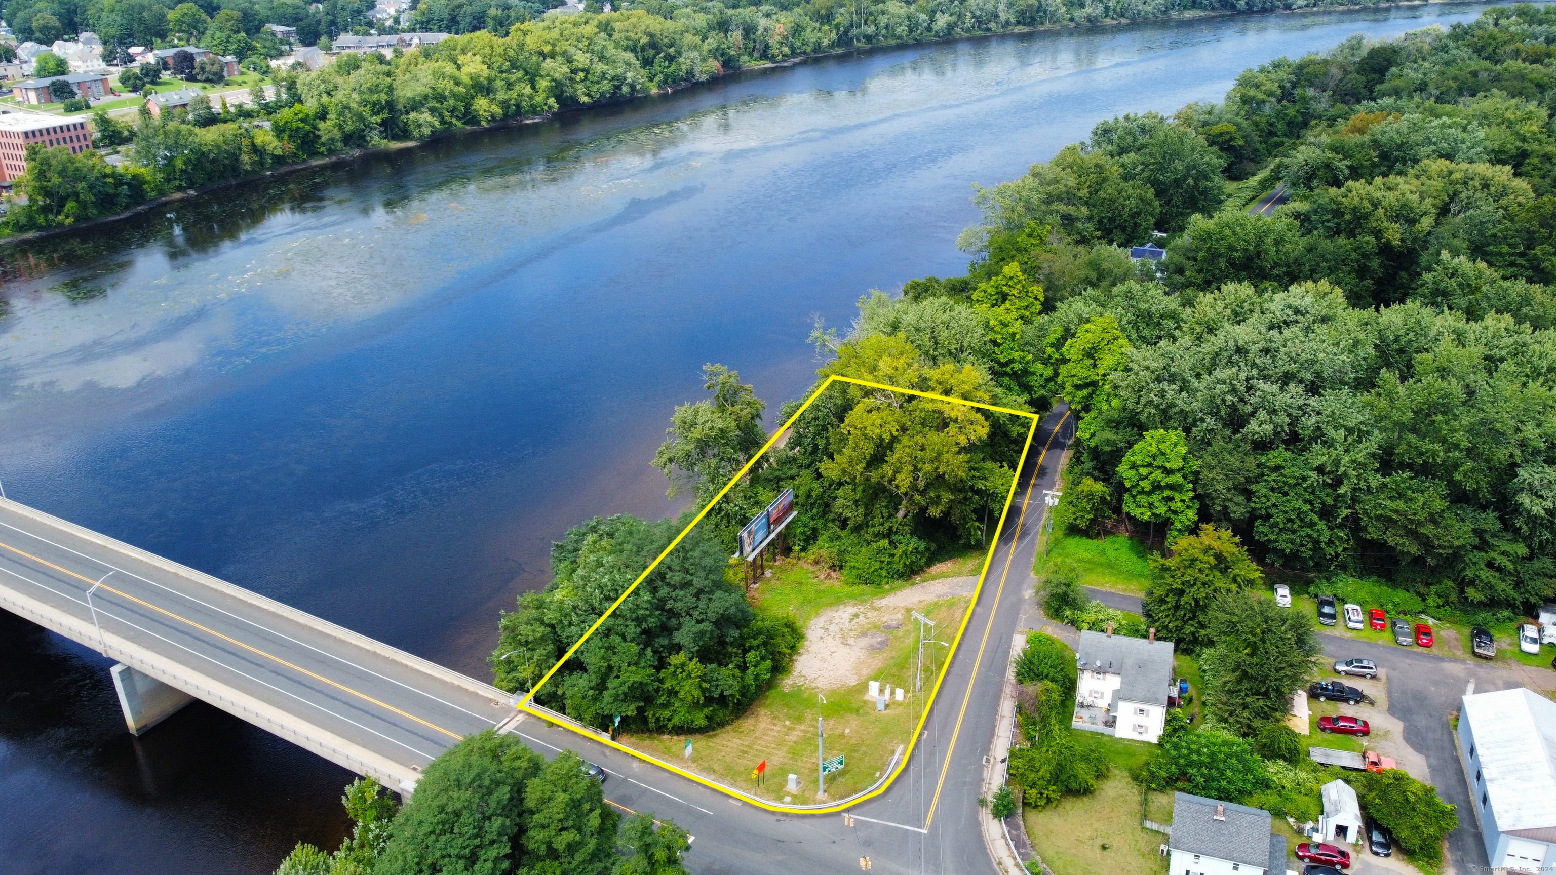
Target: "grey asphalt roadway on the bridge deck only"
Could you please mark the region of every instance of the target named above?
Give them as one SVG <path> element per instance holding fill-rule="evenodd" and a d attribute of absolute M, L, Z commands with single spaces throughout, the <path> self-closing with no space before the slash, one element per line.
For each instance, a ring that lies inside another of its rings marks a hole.
<path fill-rule="evenodd" d="M 11 501 L 0 501 L 0 589 L 87 627 L 95 617 L 109 635 L 392 763 L 425 766 L 512 715 L 506 702 L 428 673 L 414 657 L 401 662 L 342 640 L 138 551 L 39 522 Z"/>

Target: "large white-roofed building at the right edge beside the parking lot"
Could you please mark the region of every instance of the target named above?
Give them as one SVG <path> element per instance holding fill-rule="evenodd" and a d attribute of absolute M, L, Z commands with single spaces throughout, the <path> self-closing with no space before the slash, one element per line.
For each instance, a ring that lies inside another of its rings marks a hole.
<path fill-rule="evenodd" d="M 1517 688 L 1464 696 L 1460 749 L 1492 869 L 1556 866 L 1556 702 Z"/>

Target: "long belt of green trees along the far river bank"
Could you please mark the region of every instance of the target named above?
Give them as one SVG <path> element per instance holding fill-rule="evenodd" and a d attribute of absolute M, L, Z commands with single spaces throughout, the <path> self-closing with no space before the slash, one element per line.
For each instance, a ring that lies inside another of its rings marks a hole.
<path fill-rule="evenodd" d="M 1354 5 L 1354 0 L 1343 0 Z M 1337 0 L 1337 5 L 1340 0 Z M 17 192 L 39 204 L 12 212 L 11 232 L 47 230 L 117 215 L 160 195 L 243 179 L 297 162 L 426 140 L 467 126 L 534 118 L 560 109 L 632 98 L 708 81 L 759 64 L 842 48 L 948 39 L 1032 26 L 1155 19 L 1195 11 L 1251 11 L 1298 6 L 1293 0 L 901 0 L 787 8 L 719 0 L 638 0 L 602 12 L 546 16 L 554 0 L 423 0 L 411 28 L 457 36 L 409 51 L 339 54 L 313 72 L 288 72 L 271 100 L 212 112 L 194 106 L 166 118 L 142 117 L 128 170 L 92 153 L 61 149 Z M 199 44 L 268 69 L 285 47 L 265 23 L 293 25 L 302 44 L 342 33 L 394 31 L 369 17 L 367 0 L 328 0 L 317 9 L 293 0 L 210 0 L 170 12 L 145 0 L 61 3 L 11 0 L 0 11 L 19 39 L 92 30 L 109 51 L 128 45 Z M 783 6 L 783 5 L 781 5 Z M 1307 6 L 1307 3 L 1302 3 Z M 408 28 L 409 30 L 409 28 Z M 47 33 L 45 33 L 47 31 Z M 58 39 L 58 36 L 56 36 Z M 50 42 L 50 40 L 44 40 Z M 58 146 L 56 146 L 58 148 Z M 44 151 L 44 149 L 39 149 Z M 137 173 L 138 171 L 138 173 Z M 1128 187 L 1108 196 L 1128 198 Z M 1186 192 L 1190 209 L 1203 192 Z M 1120 213 L 1122 215 L 1122 213 Z M 1139 221 L 1134 215 L 1131 220 Z M 1111 220 L 1109 220 L 1111 221 Z M 1105 232 L 1117 232 L 1108 227 Z"/>

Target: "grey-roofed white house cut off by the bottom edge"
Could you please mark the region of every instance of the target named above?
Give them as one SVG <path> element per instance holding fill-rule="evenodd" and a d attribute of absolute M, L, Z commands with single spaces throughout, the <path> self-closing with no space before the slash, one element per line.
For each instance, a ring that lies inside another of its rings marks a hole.
<path fill-rule="evenodd" d="M 1167 849 L 1167 875 L 1285 875 L 1285 836 L 1260 808 L 1175 794 Z"/>

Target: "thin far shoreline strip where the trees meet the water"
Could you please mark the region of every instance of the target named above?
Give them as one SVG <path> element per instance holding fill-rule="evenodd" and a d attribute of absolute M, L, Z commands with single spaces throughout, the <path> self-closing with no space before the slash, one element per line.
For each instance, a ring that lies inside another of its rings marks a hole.
<path fill-rule="evenodd" d="M 1148 19 L 1105 19 L 1102 22 L 1086 22 L 1086 23 L 1071 23 L 1071 25 L 1043 25 L 1043 26 L 1035 26 L 1035 28 L 1010 28 L 1010 30 L 1002 30 L 1002 31 L 971 33 L 971 34 L 948 36 L 948 37 L 937 37 L 937 39 L 918 39 L 918 40 L 907 40 L 907 42 L 882 42 L 882 44 L 876 44 L 876 45 L 854 45 L 854 47 L 848 47 L 848 48 L 834 48 L 831 51 L 818 51 L 818 53 L 814 53 L 814 54 L 800 54 L 800 56 L 795 56 L 795 58 L 784 59 L 784 61 L 770 61 L 770 62 L 762 62 L 762 64 L 753 64 L 750 67 L 741 67 L 739 70 L 727 70 L 727 72 L 719 73 L 717 76 L 713 76 L 710 79 L 705 79 L 705 81 L 700 81 L 700 83 L 686 83 L 686 84 L 683 84 L 680 87 L 668 87 L 668 89 L 646 92 L 646 93 L 641 93 L 641 95 L 613 98 L 613 100 L 605 100 L 605 101 L 590 103 L 590 104 L 582 104 L 582 106 L 569 106 L 569 107 L 565 107 L 565 109 L 557 109 L 557 111 L 552 111 L 552 112 L 546 112 L 546 114 L 541 114 L 541 115 L 532 115 L 532 117 L 526 117 L 526 118 L 504 118 L 501 121 L 493 121 L 492 125 L 471 125 L 471 126 L 464 126 L 464 128 L 450 128 L 448 131 L 439 131 L 437 134 L 433 134 L 431 137 L 428 137 L 425 140 L 395 140 L 395 142 L 391 142 L 391 143 L 383 145 L 383 146 L 367 146 L 367 148 L 361 148 L 361 149 L 352 149 L 352 151 L 347 151 L 347 153 L 339 153 L 339 154 L 333 154 L 333 156 L 316 157 L 316 159 L 310 159 L 310 160 L 299 162 L 299 163 L 288 163 L 285 167 L 277 167 L 274 170 L 266 170 L 265 173 L 254 173 L 254 174 L 249 174 L 249 176 L 237 176 L 237 177 L 232 177 L 232 179 L 227 179 L 227 181 L 223 181 L 223 182 L 215 182 L 212 185 L 205 185 L 202 188 L 187 188 L 184 192 L 171 192 L 168 195 L 160 195 L 160 196 L 152 198 L 152 199 L 149 199 L 149 201 L 146 201 L 143 204 L 137 204 L 137 206 L 134 206 L 134 207 L 131 207 L 128 210 L 123 210 L 123 212 L 118 212 L 118 213 L 114 213 L 114 215 L 98 216 L 98 218 L 93 218 L 93 220 L 86 220 L 86 221 L 79 221 L 79 223 L 73 223 L 73 224 L 67 224 L 67 226 L 61 226 L 61 227 L 48 227 L 48 229 L 42 229 L 42 230 L 28 230 L 28 232 L 14 234 L 14 235 L 0 235 L 0 249 L 6 249 L 6 248 L 25 244 L 25 243 L 36 243 L 39 240 L 45 240 L 45 238 L 50 238 L 50 237 L 59 237 L 62 234 L 70 234 L 70 232 L 76 232 L 76 230 L 87 230 L 87 229 L 92 229 L 92 227 L 101 227 L 101 226 L 106 226 L 106 224 L 112 224 L 112 223 L 118 223 L 118 221 L 123 221 L 123 220 L 128 220 L 128 218 L 134 218 L 134 216 L 142 215 L 145 212 L 149 212 L 149 210 L 152 210 L 156 207 L 162 207 L 162 206 L 168 206 L 168 204 L 176 204 L 176 202 L 180 202 L 180 201 L 187 201 L 190 198 L 199 198 L 202 195 L 210 195 L 213 192 L 221 192 L 221 190 L 226 190 L 226 188 L 235 188 L 235 187 L 240 187 L 240 185 L 249 185 L 249 184 L 255 184 L 255 182 L 265 182 L 268 179 L 277 179 L 277 177 L 282 177 L 282 176 L 289 176 L 293 173 L 302 173 L 305 170 L 317 170 L 317 168 L 331 167 L 331 165 L 344 165 L 344 163 L 356 162 L 356 160 L 361 160 L 361 159 L 366 159 L 366 157 L 375 157 L 375 156 L 381 156 L 381 154 L 392 154 L 392 153 L 397 153 L 397 151 L 412 149 L 412 148 L 423 146 L 423 145 L 428 145 L 428 143 L 437 143 L 437 142 L 448 140 L 448 139 L 453 139 L 453 137 L 462 137 L 465 134 L 476 134 L 476 132 L 485 132 L 485 131 L 498 131 L 498 129 L 503 129 L 503 128 L 518 128 L 518 126 L 523 126 L 523 125 L 537 125 L 537 123 L 551 121 L 551 120 L 555 120 L 555 118 L 560 118 L 563 115 L 574 114 L 574 112 L 585 112 L 585 111 L 599 109 L 599 107 L 605 107 L 605 106 L 621 106 L 621 104 L 626 104 L 626 103 L 630 103 L 630 101 L 643 100 L 646 97 L 663 97 L 663 95 L 674 93 L 677 90 L 696 89 L 696 87 L 700 87 L 700 86 L 706 86 L 706 84 L 725 79 L 728 76 L 739 76 L 742 73 L 753 73 L 755 75 L 755 73 L 759 73 L 762 70 L 773 70 L 773 69 L 781 69 L 781 67 L 794 67 L 794 65 L 811 62 L 811 61 L 817 61 L 817 59 L 822 59 L 822 58 L 836 58 L 839 54 L 859 54 L 859 53 L 865 53 L 865 51 L 904 48 L 904 47 L 912 47 L 912 45 L 935 45 L 935 44 L 957 42 L 957 40 L 971 40 L 971 39 L 990 39 L 990 37 L 996 37 L 996 36 L 1010 36 L 1010 34 L 1039 34 L 1039 33 L 1078 31 L 1078 30 L 1086 30 L 1086 28 L 1116 28 L 1116 26 L 1123 26 L 1123 25 L 1161 23 L 1161 22 L 1175 22 L 1175 20 L 1184 20 L 1184 19 L 1212 19 L 1212 17 L 1232 17 L 1232 16 L 1249 16 L 1251 17 L 1251 16 L 1309 14 L 1309 12 L 1357 12 L 1357 11 L 1363 11 L 1363 9 L 1394 9 L 1394 8 L 1402 8 L 1402 6 L 1432 6 L 1432 5 L 1456 6 L 1456 5 L 1472 5 L 1472 3 L 1478 3 L 1478 2 L 1480 0 L 1399 0 L 1399 2 L 1394 2 L 1394 3 L 1369 3 L 1369 5 L 1355 5 L 1355 3 L 1352 3 L 1352 5 L 1343 5 L 1343 6 L 1304 6 L 1304 8 L 1299 8 L 1299 9 L 1262 9 L 1262 11 L 1254 11 L 1254 12 L 1237 11 L 1237 9 L 1187 11 L 1187 12 L 1175 12 L 1175 14 L 1169 14 L 1169 16 L 1156 16 L 1156 17 L 1148 17 Z"/>

